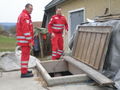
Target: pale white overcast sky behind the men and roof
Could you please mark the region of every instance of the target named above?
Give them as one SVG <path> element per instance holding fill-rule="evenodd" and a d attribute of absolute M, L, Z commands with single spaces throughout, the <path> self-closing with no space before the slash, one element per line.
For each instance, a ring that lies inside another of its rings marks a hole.
<path fill-rule="evenodd" d="M 44 7 L 52 0 L 0 0 L 0 22 L 17 22 L 27 3 L 33 5 L 32 21 L 42 21 Z"/>

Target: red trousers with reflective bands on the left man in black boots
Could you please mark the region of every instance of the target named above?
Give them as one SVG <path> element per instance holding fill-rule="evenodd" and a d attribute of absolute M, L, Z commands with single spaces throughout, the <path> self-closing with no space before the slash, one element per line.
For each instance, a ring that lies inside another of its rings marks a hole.
<path fill-rule="evenodd" d="M 21 46 L 21 73 L 26 74 L 28 72 L 28 62 L 30 58 L 30 46 Z"/>

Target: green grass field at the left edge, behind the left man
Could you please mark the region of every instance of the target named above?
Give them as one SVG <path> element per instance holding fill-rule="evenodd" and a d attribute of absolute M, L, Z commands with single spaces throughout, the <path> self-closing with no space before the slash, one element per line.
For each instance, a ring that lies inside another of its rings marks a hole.
<path fill-rule="evenodd" d="M 16 39 L 0 35 L 0 52 L 14 51 L 16 47 Z"/>

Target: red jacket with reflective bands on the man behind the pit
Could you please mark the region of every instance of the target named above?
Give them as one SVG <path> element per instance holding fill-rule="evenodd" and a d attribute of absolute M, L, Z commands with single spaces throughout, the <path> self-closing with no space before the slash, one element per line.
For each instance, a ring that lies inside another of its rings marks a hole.
<path fill-rule="evenodd" d="M 52 16 L 49 24 L 48 31 L 49 33 L 63 33 L 63 30 L 66 29 L 68 31 L 68 24 L 64 16 L 62 15 L 54 15 Z"/>

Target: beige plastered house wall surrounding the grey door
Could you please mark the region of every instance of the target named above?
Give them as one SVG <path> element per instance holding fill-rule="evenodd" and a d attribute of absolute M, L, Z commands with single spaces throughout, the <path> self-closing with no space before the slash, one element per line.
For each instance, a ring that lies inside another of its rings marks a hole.
<path fill-rule="evenodd" d="M 96 16 L 104 15 L 106 8 L 109 8 L 107 14 L 120 14 L 120 0 L 67 0 L 58 5 L 62 8 L 63 15 L 68 19 L 69 11 L 84 8 L 85 21 L 87 18 L 94 19 Z M 69 52 L 68 35 L 64 34 L 64 50 Z"/>

